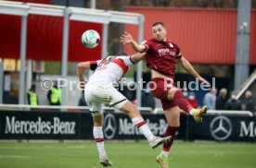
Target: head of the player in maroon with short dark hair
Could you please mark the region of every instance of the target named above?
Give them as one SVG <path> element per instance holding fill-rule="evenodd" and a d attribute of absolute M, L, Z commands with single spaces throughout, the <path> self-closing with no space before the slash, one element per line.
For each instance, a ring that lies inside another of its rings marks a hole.
<path fill-rule="evenodd" d="M 166 41 L 166 28 L 162 22 L 155 22 L 152 25 L 152 35 L 157 41 Z"/>

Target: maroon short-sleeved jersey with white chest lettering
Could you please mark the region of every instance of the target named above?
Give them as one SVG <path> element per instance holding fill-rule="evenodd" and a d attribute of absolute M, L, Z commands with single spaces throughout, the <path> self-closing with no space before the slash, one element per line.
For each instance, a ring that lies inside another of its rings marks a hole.
<path fill-rule="evenodd" d="M 178 56 L 180 53 L 179 47 L 168 40 L 158 42 L 154 39 L 144 42 L 144 45 L 147 47 L 147 67 L 174 79 L 175 60 L 181 57 Z"/>

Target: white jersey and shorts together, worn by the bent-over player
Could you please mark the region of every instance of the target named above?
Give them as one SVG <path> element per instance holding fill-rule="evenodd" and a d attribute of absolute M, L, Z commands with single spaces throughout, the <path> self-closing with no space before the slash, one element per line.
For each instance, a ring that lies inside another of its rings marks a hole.
<path fill-rule="evenodd" d="M 130 56 L 108 56 L 96 61 L 95 73 L 89 78 L 85 87 L 85 101 L 92 115 L 102 114 L 102 104 L 121 109 L 127 99 L 114 88 L 122 75 L 133 66 Z"/>

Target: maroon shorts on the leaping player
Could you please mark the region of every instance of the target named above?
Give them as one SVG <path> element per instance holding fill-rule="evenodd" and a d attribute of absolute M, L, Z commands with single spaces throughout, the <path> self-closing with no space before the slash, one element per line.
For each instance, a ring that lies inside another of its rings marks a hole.
<path fill-rule="evenodd" d="M 167 110 L 175 106 L 173 101 L 167 100 L 168 91 L 175 87 L 173 81 L 164 78 L 152 78 L 150 90 L 155 98 L 160 99 L 162 109 Z"/>

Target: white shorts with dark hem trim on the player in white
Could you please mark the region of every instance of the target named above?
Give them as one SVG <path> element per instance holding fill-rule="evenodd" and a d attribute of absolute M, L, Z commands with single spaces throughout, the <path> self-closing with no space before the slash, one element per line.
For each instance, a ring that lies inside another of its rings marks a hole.
<path fill-rule="evenodd" d="M 87 83 L 85 90 L 85 101 L 93 116 L 103 113 L 103 104 L 109 107 L 121 109 L 128 100 L 116 90 L 112 84 L 105 82 Z"/>

